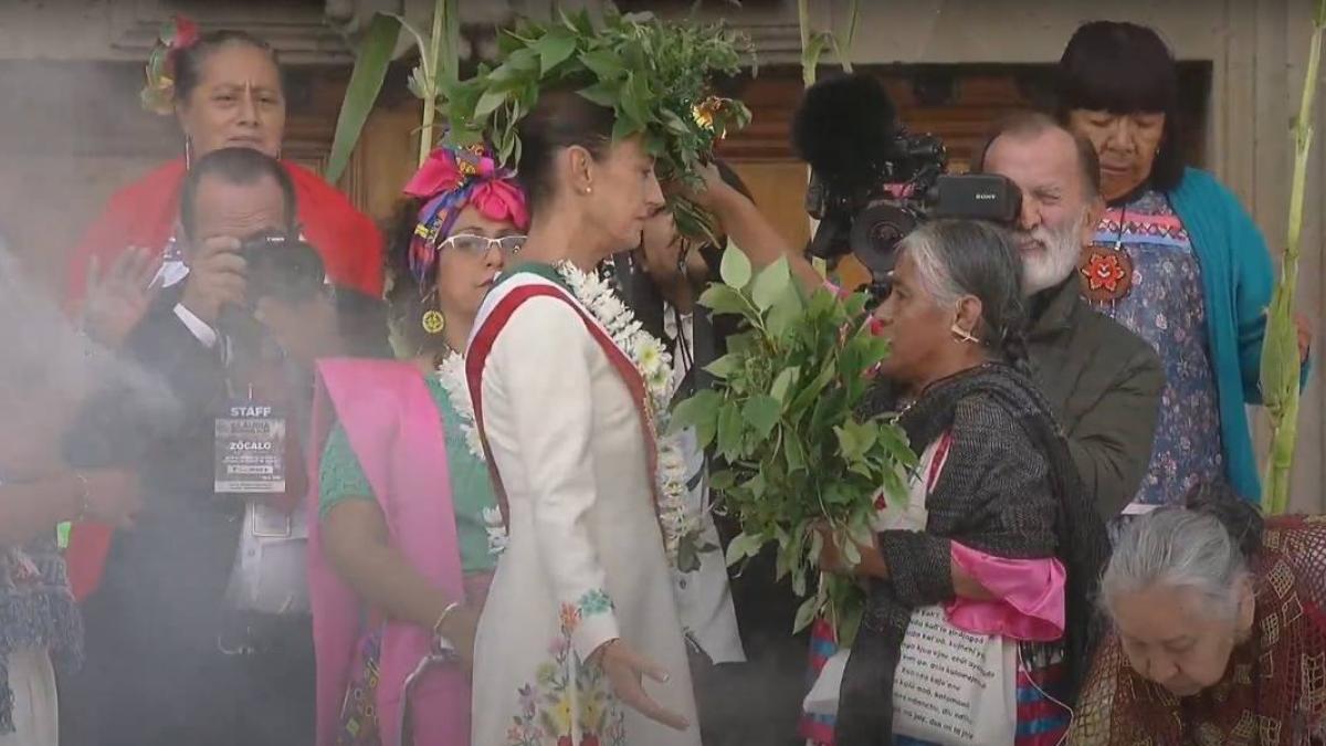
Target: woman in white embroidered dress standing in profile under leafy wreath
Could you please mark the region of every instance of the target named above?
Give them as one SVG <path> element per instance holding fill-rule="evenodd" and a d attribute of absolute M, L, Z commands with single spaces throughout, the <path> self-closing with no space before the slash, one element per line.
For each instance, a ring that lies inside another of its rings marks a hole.
<path fill-rule="evenodd" d="M 574 90 L 521 121 L 529 239 L 467 356 L 509 531 L 475 642 L 475 746 L 700 743 L 656 508 L 666 357 L 586 276 L 663 203 L 614 123 Z"/>

